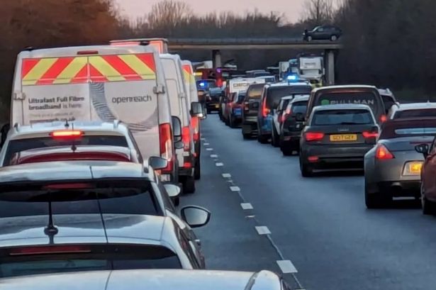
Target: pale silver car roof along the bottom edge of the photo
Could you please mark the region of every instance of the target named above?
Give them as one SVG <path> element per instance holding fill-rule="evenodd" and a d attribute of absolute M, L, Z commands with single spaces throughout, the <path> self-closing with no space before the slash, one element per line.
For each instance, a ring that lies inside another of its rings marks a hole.
<path fill-rule="evenodd" d="M 115 270 L 0 279 L 5 289 L 14 290 L 279 290 L 280 283 L 277 274 L 265 270 Z"/>

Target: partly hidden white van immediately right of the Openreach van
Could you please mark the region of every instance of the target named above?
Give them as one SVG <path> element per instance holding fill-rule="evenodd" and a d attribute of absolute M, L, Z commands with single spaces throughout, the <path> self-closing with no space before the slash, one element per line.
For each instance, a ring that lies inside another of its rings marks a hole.
<path fill-rule="evenodd" d="M 160 55 L 167 81 L 167 91 L 172 116 L 177 116 L 181 121 L 181 140 L 183 146 L 176 147 L 179 162 L 179 180 L 183 184 L 185 193 L 195 191 L 194 180 L 194 131 L 191 129 L 191 115 L 188 96 L 186 94 L 184 75 L 181 68 L 179 55 L 167 53 Z"/>

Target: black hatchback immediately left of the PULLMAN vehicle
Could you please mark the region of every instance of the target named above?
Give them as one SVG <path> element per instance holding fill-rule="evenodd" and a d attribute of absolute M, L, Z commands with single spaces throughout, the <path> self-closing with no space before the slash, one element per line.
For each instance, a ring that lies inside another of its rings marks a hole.
<path fill-rule="evenodd" d="M 284 121 L 280 130 L 280 150 L 285 156 L 292 155 L 300 148 L 301 130 L 304 128 L 304 116 L 309 96 L 296 96 L 286 107 Z"/>

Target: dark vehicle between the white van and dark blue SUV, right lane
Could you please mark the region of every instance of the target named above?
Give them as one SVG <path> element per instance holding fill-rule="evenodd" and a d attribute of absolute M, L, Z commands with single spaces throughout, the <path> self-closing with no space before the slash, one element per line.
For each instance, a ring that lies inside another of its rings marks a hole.
<path fill-rule="evenodd" d="M 260 98 L 265 84 L 250 84 L 242 101 L 242 136 L 249 139 L 257 133 L 257 111 L 259 111 Z"/>

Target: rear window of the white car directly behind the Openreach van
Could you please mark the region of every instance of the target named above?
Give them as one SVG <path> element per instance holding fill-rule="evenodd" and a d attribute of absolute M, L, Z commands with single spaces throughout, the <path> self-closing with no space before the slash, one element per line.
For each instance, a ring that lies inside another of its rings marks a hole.
<path fill-rule="evenodd" d="M 128 147 L 125 136 L 116 135 L 84 135 L 77 140 L 60 140 L 58 138 L 42 137 L 11 140 L 6 150 L 3 166 L 10 164 L 11 158 L 18 152 L 45 147 L 59 147 L 71 145 L 110 145 Z"/>

